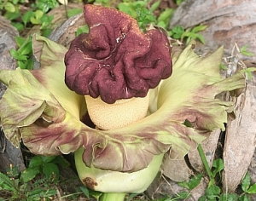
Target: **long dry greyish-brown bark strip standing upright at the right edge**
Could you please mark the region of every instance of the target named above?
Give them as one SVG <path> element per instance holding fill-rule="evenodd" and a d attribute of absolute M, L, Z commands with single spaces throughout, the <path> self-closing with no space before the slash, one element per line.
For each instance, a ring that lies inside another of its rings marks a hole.
<path fill-rule="evenodd" d="M 224 143 L 224 190 L 235 192 L 253 158 L 256 146 L 256 82 L 236 102 L 236 119 L 228 123 Z"/>

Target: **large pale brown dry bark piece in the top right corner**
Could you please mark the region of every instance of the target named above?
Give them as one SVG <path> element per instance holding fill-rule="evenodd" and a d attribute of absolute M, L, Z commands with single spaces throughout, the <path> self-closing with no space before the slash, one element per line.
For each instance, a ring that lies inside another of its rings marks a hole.
<path fill-rule="evenodd" d="M 206 44 L 199 47 L 201 53 L 224 45 L 225 52 L 230 55 L 235 43 L 240 48 L 248 45 L 248 49 L 255 53 L 255 13 L 255 0 L 187 0 L 175 12 L 170 26 L 207 25 L 201 32 L 206 39 Z M 242 59 L 255 63 L 256 54 L 244 55 Z"/>

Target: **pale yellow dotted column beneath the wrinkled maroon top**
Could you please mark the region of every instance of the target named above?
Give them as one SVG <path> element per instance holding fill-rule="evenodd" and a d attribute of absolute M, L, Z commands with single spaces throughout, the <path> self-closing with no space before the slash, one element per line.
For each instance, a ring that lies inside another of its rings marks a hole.
<path fill-rule="evenodd" d="M 84 97 L 90 119 L 99 129 L 122 128 L 144 118 L 148 112 L 149 95 L 144 98 L 116 100 L 113 104 L 89 95 Z"/>

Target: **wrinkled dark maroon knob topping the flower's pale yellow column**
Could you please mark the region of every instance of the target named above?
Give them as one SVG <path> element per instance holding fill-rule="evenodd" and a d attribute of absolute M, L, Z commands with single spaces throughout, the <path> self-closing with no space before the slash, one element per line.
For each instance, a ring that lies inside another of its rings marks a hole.
<path fill-rule="evenodd" d="M 71 43 L 65 56 L 67 87 L 107 103 L 144 97 L 172 74 L 171 49 L 159 29 L 145 34 L 116 9 L 85 5 L 90 32 Z"/>

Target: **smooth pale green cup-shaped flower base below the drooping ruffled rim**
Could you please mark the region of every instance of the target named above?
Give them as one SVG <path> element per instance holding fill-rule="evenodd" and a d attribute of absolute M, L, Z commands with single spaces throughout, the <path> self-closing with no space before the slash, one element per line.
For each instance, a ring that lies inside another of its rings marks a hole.
<path fill-rule="evenodd" d="M 82 160 L 83 148 L 75 152 L 75 162 L 79 178 L 90 178 L 96 185 L 94 190 L 100 192 L 144 192 L 154 180 L 160 169 L 163 154 L 154 156 L 147 168 L 132 173 L 88 168 Z M 113 158 L 114 160 L 114 158 Z M 114 200 L 113 200 L 114 201 Z"/>

